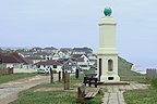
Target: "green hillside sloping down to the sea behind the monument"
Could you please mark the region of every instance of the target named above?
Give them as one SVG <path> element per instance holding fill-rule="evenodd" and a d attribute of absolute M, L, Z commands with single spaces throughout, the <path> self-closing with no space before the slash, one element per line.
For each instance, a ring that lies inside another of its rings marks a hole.
<path fill-rule="evenodd" d="M 141 75 L 138 73 L 132 72 L 132 63 L 125 61 L 124 58 L 120 57 L 118 58 L 118 73 L 120 77 L 126 77 L 126 78 L 133 78 L 133 76 Z"/>

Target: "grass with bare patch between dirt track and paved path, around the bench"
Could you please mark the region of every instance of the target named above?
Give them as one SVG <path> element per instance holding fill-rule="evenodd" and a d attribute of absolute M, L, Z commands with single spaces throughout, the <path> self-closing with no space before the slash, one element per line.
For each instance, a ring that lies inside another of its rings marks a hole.
<path fill-rule="evenodd" d="M 22 92 L 20 99 L 11 104 L 76 104 L 77 87 L 81 82 L 83 76 L 78 79 L 72 76 L 71 90 L 63 90 L 63 82 L 39 84 Z M 85 100 L 82 104 L 101 104 L 101 98 L 102 93 L 99 93 L 95 99 Z"/>

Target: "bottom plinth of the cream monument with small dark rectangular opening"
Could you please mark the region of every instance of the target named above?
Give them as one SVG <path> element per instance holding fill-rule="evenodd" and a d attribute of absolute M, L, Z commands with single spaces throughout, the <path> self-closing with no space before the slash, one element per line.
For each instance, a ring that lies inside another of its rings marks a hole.
<path fill-rule="evenodd" d="M 100 76 L 101 82 L 119 82 L 120 77 L 118 75 L 112 76 Z"/>

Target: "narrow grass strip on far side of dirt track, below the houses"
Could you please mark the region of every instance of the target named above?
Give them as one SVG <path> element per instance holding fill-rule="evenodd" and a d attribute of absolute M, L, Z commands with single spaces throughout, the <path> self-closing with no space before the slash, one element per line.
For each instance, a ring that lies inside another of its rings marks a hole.
<path fill-rule="evenodd" d="M 22 78 L 26 78 L 26 77 L 33 77 L 36 74 L 11 74 L 11 75 L 0 75 L 0 83 L 3 82 L 9 82 L 9 81 L 13 81 L 13 80 L 17 80 L 17 79 L 22 79 Z"/>

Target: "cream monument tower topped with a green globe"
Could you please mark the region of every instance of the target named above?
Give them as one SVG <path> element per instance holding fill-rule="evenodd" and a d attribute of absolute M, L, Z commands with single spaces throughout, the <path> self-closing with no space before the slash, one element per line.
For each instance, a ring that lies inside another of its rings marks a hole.
<path fill-rule="evenodd" d="M 99 48 L 97 57 L 97 77 L 101 82 L 118 82 L 118 52 L 116 46 L 116 21 L 111 9 L 106 8 L 99 23 Z"/>

